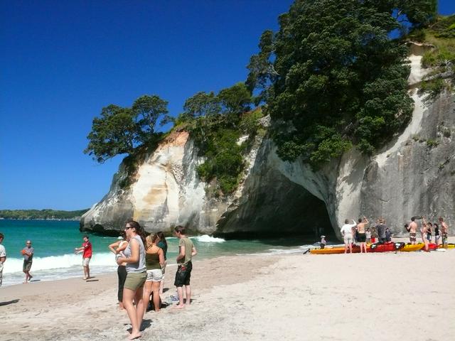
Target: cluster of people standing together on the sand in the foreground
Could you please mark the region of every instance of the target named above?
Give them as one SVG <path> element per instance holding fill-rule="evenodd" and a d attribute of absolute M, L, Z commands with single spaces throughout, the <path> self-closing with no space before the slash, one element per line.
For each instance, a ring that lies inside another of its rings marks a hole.
<path fill-rule="evenodd" d="M 197 251 L 193 242 L 186 236 L 183 226 L 174 228 L 173 233 L 179 239 L 177 271 L 174 285 L 177 288 L 178 304 L 175 308 L 184 308 L 191 304 L 192 258 Z M 119 286 L 117 298 L 119 307 L 127 310 L 132 330 L 129 340 L 141 337 L 139 328 L 153 296 L 155 311 L 160 310 L 160 294 L 163 293 L 164 273 L 166 269 L 167 242 L 163 232 L 146 235 L 141 225 L 129 220 L 122 231 L 122 240 L 109 245 L 116 255 Z M 186 301 L 183 299 L 185 286 Z"/>

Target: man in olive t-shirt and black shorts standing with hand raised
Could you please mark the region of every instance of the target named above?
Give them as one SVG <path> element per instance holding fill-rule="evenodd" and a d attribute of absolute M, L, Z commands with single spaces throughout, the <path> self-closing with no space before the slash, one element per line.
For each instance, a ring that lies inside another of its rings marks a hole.
<path fill-rule="evenodd" d="M 191 304 L 191 286 L 190 286 L 190 277 L 191 277 L 191 269 L 193 269 L 193 264 L 191 263 L 191 259 L 193 256 L 196 256 L 198 251 L 196 251 L 196 247 L 194 247 L 193 242 L 186 237 L 185 234 L 185 227 L 183 226 L 176 226 L 174 229 L 174 233 L 178 240 L 178 256 L 177 256 L 177 272 L 176 272 L 176 279 L 174 281 L 174 286 L 177 287 L 178 293 L 178 305 L 176 308 L 183 308 L 183 286 L 185 286 L 186 291 L 186 305 Z"/>

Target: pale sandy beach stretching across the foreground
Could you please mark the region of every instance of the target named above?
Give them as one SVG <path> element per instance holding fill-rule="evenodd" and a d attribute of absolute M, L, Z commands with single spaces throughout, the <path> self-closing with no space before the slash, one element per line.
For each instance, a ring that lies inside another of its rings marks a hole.
<path fill-rule="evenodd" d="M 146 313 L 141 340 L 454 340 L 454 264 L 453 249 L 195 261 L 191 307 Z M 117 274 L 0 288 L 0 340 L 126 340 L 116 293 Z"/>

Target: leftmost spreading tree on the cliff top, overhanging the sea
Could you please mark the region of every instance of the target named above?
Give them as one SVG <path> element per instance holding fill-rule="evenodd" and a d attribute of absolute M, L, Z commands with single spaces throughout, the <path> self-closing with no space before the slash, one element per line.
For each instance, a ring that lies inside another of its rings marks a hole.
<path fill-rule="evenodd" d="M 144 95 L 131 108 L 110 104 L 102 108 L 101 117 L 95 117 L 84 153 L 103 163 L 119 154 L 131 154 L 137 146 L 156 139 L 155 128 L 168 112 L 164 99 Z"/>

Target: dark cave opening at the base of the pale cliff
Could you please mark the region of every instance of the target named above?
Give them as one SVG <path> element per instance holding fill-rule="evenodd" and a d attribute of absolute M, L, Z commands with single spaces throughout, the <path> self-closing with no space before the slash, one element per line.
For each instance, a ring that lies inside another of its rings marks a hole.
<path fill-rule="evenodd" d="M 215 237 L 264 239 L 272 245 L 286 238 L 301 245 L 319 241 L 321 234 L 334 234 L 325 202 L 285 177 L 269 161 L 270 148 L 259 148 L 242 196 L 220 217 Z"/>

